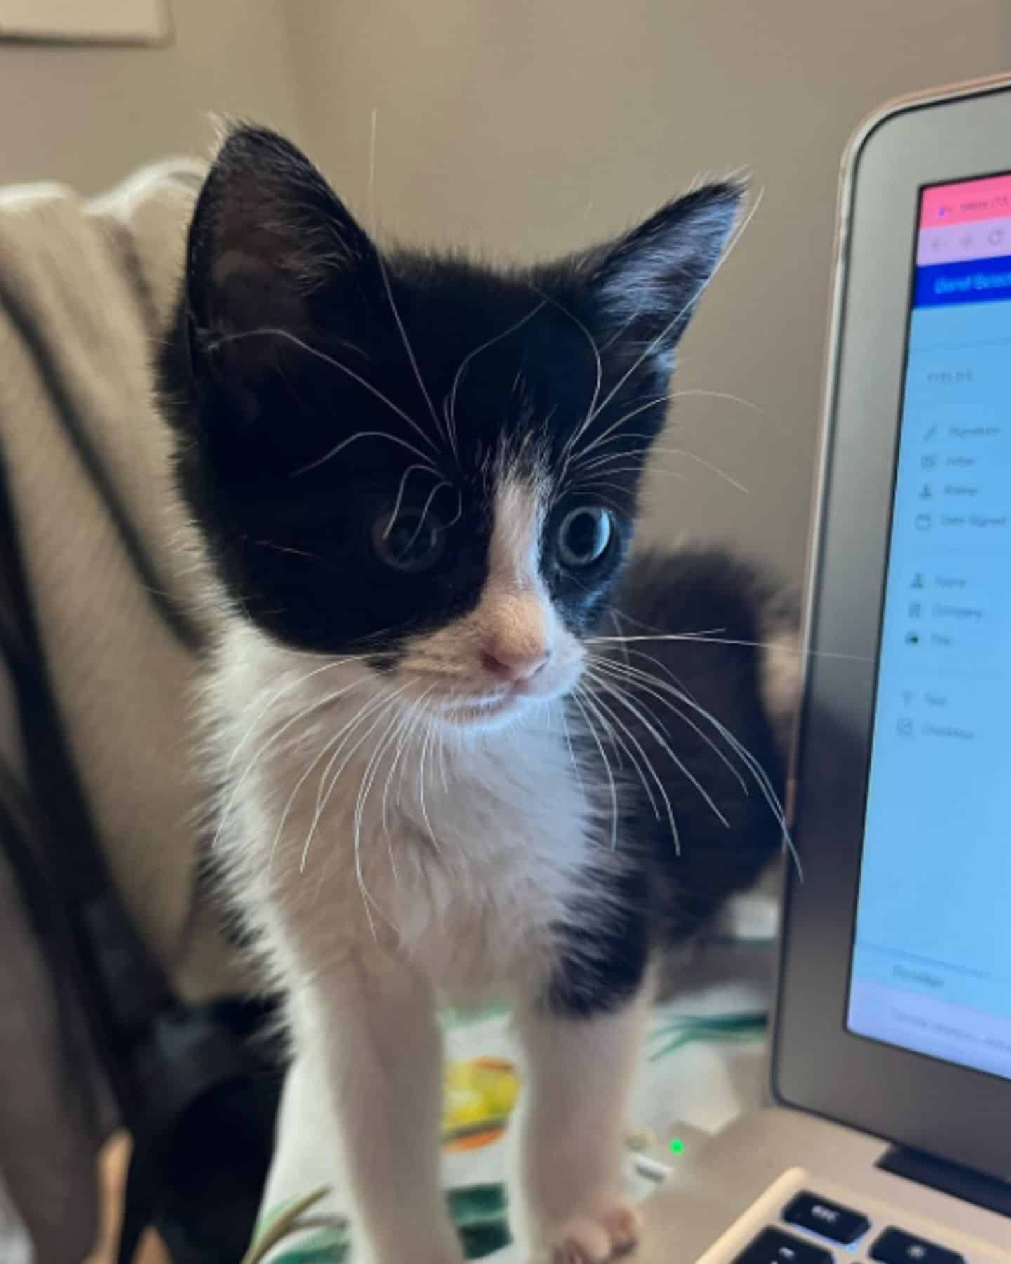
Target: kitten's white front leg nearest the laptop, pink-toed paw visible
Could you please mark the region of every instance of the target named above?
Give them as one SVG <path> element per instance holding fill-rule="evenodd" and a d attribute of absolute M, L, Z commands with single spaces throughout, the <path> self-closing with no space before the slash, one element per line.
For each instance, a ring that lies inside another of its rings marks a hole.
<path fill-rule="evenodd" d="M 638 1237 L 622 1162 L 646 1010 L 642 990 L 585 1018 L 521 1015 L 528 1083 L 519 1235 L 537 1264 L 603 1264 Z"/>

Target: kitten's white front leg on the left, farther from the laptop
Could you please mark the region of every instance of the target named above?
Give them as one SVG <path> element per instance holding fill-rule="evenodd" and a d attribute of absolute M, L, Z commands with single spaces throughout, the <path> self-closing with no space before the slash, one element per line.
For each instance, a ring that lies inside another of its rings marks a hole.
<path fill-rule="evenodd" d="M 358 1264 L 460 1264 L 440 1184 L 442 1042 L 428 983 L 378 949 L 349 956 L 317 975 L 296 1028 L 325 1068 Z"/>

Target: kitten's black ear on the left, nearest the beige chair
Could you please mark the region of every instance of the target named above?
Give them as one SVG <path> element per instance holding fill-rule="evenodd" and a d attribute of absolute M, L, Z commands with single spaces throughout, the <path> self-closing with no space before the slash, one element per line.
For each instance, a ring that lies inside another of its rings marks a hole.
<path fill-rule="evenodd" d="M 235 129 L 190 228 L 193 351 L 216 373 L 238 373 L 251 384 L 284 354 L 283 336 L 257 331 L 305 340 L 326 291 L 336 282 L 354 288 L 374 260 L 368 235 L 300 149 L 267 129 Z"/>

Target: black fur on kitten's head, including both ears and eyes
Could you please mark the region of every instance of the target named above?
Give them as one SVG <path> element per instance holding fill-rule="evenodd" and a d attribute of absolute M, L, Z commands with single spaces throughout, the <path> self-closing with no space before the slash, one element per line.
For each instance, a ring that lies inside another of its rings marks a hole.
<path fill-rule="evenodd" d="M 739 197 L 699 190 L 602 248 L 494 273 L 380 255 L 298 150 L 234 133 L 162 380 L 236 608 L 297 648 L 397 652 L 476 605 L 497 488 L 521 477 L 545 489 L 545 586 L 589 628 Z"/>

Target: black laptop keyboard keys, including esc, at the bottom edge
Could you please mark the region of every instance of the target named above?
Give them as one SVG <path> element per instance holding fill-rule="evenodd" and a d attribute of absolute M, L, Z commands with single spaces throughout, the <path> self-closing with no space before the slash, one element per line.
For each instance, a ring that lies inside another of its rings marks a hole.
<path fill-rule="evenodd" d="M 816 1234 L 826 1245 L 799 1237 L 786 1229 L 767 1227 L 734 1256 L 733 1264 L 833 1264 L 828 1244 L 847 1248 L 854 1264 L 967 1264 L 964 1255 L 939 1246 L 895 1225 L 871 1234 L 871 1218 L 853 1207 L 801 1191 L 782 1208 L 785 1225 Z M 867 1241 L 863 1241 L 863 1239 Z"/>

